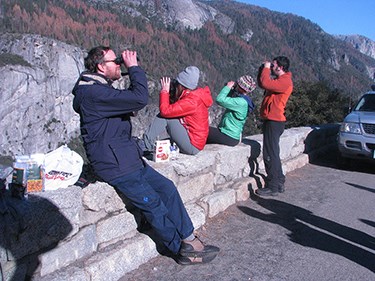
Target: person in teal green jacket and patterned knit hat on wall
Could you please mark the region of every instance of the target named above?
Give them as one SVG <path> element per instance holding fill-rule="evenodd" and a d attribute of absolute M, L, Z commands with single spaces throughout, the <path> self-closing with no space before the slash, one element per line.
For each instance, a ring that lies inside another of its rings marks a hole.
<path fill-rule="evenodd" d="M 216 102 L 226 110 L 219 126 L 210 127 L 207 143 L 229 146 L 240 143 L 247 115 L 254 109 L 254 103 L 248 94 L 255 88 L 254 79 L 249 75 L 240 77 L 237 82 L 229 81 L 224 86 Z"/>

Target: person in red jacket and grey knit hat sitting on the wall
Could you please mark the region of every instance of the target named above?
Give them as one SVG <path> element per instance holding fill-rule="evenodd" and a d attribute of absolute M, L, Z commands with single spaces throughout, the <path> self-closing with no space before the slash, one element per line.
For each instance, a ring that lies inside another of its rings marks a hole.
<path fill-rule="evenodd" d="M 145 147 L 152 151 L 157 139 L 171 139 L 180 152 L 195 155 L 206 145 L 208 108 L 213 100 L 208 86 L 197 88 L 199 69 L 188 66 L 176 79 L 162 77 L 160 113 L 143 136 Z"/>

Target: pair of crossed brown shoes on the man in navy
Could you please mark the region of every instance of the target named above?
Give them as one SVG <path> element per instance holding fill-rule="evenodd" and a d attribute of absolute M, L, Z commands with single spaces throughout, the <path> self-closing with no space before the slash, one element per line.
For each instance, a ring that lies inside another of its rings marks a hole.
<path fill-rule="evenodd" d="M 192 241 L 182 241 L 178 263 L 184 265 L 207 263 L 212 261 L 219 252 L 218 247 L 204 245 L 199 238 L 195 237 Z"/>

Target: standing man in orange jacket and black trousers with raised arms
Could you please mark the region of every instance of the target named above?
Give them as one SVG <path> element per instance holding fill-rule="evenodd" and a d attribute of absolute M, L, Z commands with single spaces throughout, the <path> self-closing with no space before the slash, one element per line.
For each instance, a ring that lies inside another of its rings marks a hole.
<path fill-rule="evenodd" d="M 285 191 L 279 142 L 285 129 L 285 106 L 293 91 L 289 59 L 278 56 L 272 63 L 264 62 L 258 73 L 258 83 L 265 90 L 260 117 L 263 119 L 263 161 L 267 178 L 265 188 L 258 189 L 256 193 L 277 196 Z"/>

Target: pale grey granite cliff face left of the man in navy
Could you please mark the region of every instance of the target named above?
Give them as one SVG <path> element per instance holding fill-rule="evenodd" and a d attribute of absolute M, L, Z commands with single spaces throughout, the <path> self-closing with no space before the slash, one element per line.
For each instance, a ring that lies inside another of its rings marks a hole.
<path fill-rule="evenodd" d="M 83 69 L 83 51 L 38 35 L 13 34 L 0 37 L 0 49 L 30 65 L 0 67 L 0 154 L 45 153 L 77 136 L 71 90 Z"/>

